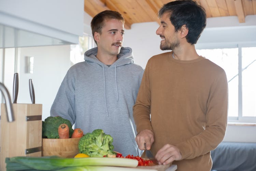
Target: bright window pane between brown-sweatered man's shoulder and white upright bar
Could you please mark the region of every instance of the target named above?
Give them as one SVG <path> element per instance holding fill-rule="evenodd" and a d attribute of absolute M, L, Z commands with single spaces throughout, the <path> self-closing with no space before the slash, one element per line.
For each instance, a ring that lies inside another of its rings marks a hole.
<path fill-rule="evenodd" d="M 238 48 L 198 49 L 197 53 L 222 67 L 228 79 L 228 116 L 238 117 Z"/>

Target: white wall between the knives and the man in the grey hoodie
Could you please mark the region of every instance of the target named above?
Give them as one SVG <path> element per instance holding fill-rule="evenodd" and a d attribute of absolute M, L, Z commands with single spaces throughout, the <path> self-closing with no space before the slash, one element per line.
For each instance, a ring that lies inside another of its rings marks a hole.
<path fill-rule="evenodd" d="M 34 57 L 33 74 L 25 73 L 26 56 Z M 32 79 L 35 91 L 35 103 L 43 104 L 42 120 L 50 116 L 50 109 L 59 86 L 71 66 L 69 58 L 70 45 L 20 48 L 17 103 L 31 103 L 29 79 Z"/>

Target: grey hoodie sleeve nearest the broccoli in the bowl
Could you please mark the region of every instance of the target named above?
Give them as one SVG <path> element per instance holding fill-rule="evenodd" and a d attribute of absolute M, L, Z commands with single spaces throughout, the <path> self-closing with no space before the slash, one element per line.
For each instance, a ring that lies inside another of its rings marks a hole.
<path fill-rule="evenodd" d="M 75 77 L 70 70 L 59 87 L 50 115 L 68 119 L 71 125 L 75 122 Z"/>

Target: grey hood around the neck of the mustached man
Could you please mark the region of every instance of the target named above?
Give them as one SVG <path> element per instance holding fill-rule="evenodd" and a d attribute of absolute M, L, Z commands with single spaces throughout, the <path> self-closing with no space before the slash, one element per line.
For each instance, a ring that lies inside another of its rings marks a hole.
<path fill-rule="evenodd" d="M 98 47 L 86 51 L 84 53 L 84 60 L 88 62 L 95 62 L 100 66 L 103 66 L 104 63 L 99 61 L 96 57 L 97 52 Z M 129 63 L 134 63 L 132 49 L 130 47 L 121 47 L 120 53 L 117 55 L 117 60 L 110 67 L 120 67 Z"/>

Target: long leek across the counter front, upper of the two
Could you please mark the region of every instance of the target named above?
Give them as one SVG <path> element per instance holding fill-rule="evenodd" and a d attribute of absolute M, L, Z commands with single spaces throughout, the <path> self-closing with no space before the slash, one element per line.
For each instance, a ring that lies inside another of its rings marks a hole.
<path fill-rule="evenodd" d="M 119 166 L 137 167 L 138 160 L 128 158 L 108 158 L 108 157 L 86 157 L 86 158 L 60 158 L 51 157 L 11 157 L 6 158 L 7 171 L 14 170 L 88 170 L 86 166 Z M 72 168 L 73 167 L 73 168 Z M 76 167 L 76 168 L 74 168 Z M 97 167 L 89 167 L 89 170 Z M 98 168 L 100 169 L 100 168 Z M 123 168 L 122 168 L 123 169 Z"/>

